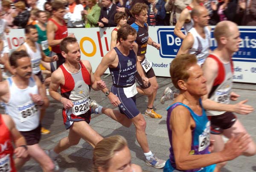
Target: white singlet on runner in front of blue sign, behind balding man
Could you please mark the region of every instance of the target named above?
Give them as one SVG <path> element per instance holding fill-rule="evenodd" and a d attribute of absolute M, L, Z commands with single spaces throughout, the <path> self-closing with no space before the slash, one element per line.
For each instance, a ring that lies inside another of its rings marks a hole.
<path fill-rule="evenodd" d="M 192 48 L 189 49 L 189 54 L 195 54 L 198 59 L 198 65 L 201 66 L 209 55 L 211 33 L 207 26 L 204 27 L 205 38 L 202 38 L 195 28 L 192 28 L 189 32 L 194 37 L 194 44 Z"/>

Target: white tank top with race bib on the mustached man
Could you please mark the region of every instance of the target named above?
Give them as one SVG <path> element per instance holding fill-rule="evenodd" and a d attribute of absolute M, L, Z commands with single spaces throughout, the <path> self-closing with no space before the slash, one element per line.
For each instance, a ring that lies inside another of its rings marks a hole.
<path fill-rule="evenodd" d="M 6 113 L 14 120 L 17 130 L 31 131 L 39 125 L 40 109 L 29 93 L 38 94 L 38 86 L 33 76 L 29 79 L 29 85 L 25 89 L 18 88 L 12 77 L 7 79 L 9 84 L 10 99 L 6 103 Z"/>

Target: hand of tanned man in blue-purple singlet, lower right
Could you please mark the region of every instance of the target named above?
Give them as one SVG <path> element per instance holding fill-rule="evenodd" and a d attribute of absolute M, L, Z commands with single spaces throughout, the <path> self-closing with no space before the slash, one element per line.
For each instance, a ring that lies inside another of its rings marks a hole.
<path fill-rule="evenodd" d="M 227 158 L 227 161 L 233 160 L 248 149 L 249 143 L 250 135 L 246 133 L 239 133 L 236 136 L 233 135 L 229 141 L 227 141 L 221 153 L 224 158 Z"/>

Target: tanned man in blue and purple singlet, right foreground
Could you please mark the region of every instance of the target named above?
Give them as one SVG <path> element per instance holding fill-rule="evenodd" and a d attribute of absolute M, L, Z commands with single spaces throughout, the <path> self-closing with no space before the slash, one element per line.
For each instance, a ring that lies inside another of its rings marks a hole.
<path fill-rule="evenodd" d="M 216 163 L 241 155 L 247 149 L 246 142 L 250 138 L 244 133 L 230 138 L 223 151 L 210 153 L 210 121 L 201 102 L 201 96 L 207 94 L 206 79 L 196 57 L 190 54 L 176 57 L 171 63 L 170 74 L 180 94 L 167 109 L 171 147 L 170 159 L 166 161 L 163 171 L 214 172 Z M 207 108 L 212 109 L 213 106 Z"/>

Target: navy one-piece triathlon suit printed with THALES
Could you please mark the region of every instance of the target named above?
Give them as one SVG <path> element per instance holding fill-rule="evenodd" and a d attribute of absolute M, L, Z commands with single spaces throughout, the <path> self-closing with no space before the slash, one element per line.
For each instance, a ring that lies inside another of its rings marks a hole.
<path fill-rule="evenodd" d="M 121 102 L 121 104 L 118 105 L 120 113 L 125 114 L 131 119 L 139 115 L 140 111 L 136 107 L 136 96 L 127 97 L 124 89 L 132 87 L 135 84 L 137 56 L 133 50 L 130 50 L 128 56 L 123 55 L 116 47 L 114 47 L 114 50 L 117 53 L 119 62 L 116 68 L 109 68 L 113 79 L 111 92 L 115 94 Z"/>

